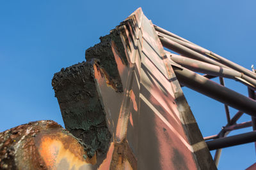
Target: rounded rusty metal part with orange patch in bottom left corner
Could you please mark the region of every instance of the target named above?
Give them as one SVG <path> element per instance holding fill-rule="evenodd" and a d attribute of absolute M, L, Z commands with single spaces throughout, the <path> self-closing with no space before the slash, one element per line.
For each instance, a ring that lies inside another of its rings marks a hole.
<path fill-rule="evenodd" d="M 0 169 L 92 169 L 83 145 L 51 120 L 30 122 L 0 133 Z"/>

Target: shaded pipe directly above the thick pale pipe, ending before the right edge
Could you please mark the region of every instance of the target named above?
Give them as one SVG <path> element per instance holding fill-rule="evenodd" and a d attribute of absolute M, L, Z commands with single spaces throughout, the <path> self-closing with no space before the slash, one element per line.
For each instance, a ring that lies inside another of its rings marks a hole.
<path fill-rule="evenodd" d="M 170 50 L 173 50 L 174 52 L 180 53 L 181 55 L 184 55 L 186 57 L 189 57 L 191 59 L 195 60 L 201 60 L 210 64 L 214 64 L 216 66 L 220 67 L 227 67 L 220 62 L 216 62 L 216 60 L 209 59 L 205 57 L 204 55 L 195 52 L 191 50 L 190 48 L 187 48 L 186 46 L 180 45 L 179 43 L 176 43 L 175 41 L 172 41 L 171 39 L 167 39 L 164 37 L 159 36 L 159 39 L 161 40 L 161 43 L 164 47 L 169 48 Z"/>

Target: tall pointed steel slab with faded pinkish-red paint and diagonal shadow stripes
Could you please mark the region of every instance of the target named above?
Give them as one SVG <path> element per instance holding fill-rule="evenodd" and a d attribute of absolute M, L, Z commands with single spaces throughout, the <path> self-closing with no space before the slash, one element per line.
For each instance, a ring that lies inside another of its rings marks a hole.
<path fill-rule="evenodd" d="M 90 74 L 85 79 L 112 136 L 105 144 L 108 152 L 96 151 L 100 154 L 93 168 L 216 169 L 186 99 L 180 97 L 170 59 L 141 9 L 100 41 L 86 50 L 84 66 Z M 85 107 L 93 102 L 86 99 Z"/>

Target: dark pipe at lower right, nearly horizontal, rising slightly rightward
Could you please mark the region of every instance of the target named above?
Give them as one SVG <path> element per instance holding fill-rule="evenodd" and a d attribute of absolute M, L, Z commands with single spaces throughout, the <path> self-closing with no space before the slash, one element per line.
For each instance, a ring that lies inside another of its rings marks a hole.
<path fill-rule="evenodd" d="M 254 141 L 256 141 L 256 131 L 206 141 L 206 144 L 209 150 L 216 150 L 230 146 L 242 145 L 245 143 L 252 143 Z"/>

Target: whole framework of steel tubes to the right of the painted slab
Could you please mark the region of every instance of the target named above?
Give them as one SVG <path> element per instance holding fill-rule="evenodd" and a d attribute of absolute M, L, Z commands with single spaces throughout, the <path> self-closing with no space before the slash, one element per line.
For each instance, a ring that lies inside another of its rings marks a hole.
<path fill-rule="evenodd" d="M 187 39 L 181 38 L 172 32 L 154 25 L 157 35 L 165 48 L 166 55 L 172 60 L 173 70 L 183 87 L 188 87 L 197 92 L 216 99 L 224 104 L 227 117 L 227 125 L 222 127 L 218 134 L 205 137 L 205 142 L 209 150 L 216 150 L 214 162 L 216 166 L 220 161 L 222 148 L 229 146 L 252 143 L 256 141 L 256 73 L 238 64 L 221 57 L 201 46 L 191 43 Z M 204 75 L 197 74 L 204 73 Z M 220 84 L 211 81 L 211 78 L 219 77 Z M 248 97 L 225 87 L 224 78 L 239 81 L 248 87 Z M 228 106 L 236 108 L 238 111 L 234 117 L 230 118 Z M 252 121 L 237 124 L 243 113 L 252 116 Z M 228 136 L 230 131 L 253 127 L 252 132 Z M 256 148 L 256 143 L 255 143 Z"/>

